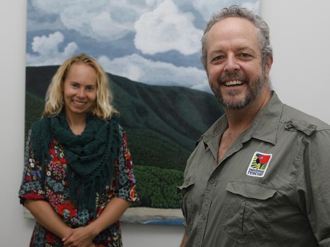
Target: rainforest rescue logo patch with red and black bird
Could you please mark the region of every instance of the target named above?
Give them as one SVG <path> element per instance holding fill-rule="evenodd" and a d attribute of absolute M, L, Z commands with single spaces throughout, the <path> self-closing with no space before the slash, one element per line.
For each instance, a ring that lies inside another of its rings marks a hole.
<path fill-rule="evenodd" d="M 255 152 L 252 156 L 246 175 L 252 177 L 263 177 L 268 168 L 268 164 L 272 159 L 271 153 Z"/>

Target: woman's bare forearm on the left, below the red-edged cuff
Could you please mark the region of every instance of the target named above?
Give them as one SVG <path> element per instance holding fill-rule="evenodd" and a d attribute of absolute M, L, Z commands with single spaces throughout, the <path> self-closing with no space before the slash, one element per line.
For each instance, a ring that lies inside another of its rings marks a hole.
<path fill-rule="evenodd" d="M 44 200 L 26 200 L 25 208 L 36 218 L 38 223 L 60 238 L 68 236 L 72 228 L 64 223 L 49 202 Z"/>

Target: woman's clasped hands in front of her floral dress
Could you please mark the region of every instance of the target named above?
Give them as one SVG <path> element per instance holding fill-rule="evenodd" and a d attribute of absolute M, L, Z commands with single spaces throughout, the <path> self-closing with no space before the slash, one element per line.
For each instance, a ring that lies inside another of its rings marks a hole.
<path fill-rule="evenodd" d="M 95 246 L 92 241 L 97 235 L 91 225 L 73 229 L 72 233 L 65 236 L 62 241 L 65 247 L 91 247 Z"/>

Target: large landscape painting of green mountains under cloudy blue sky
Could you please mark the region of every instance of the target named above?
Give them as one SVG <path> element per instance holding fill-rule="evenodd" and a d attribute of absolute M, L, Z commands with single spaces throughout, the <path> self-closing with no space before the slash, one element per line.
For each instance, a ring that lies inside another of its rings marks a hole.
<path fill-rule="evenodd" d="M 28 0 L 25 135 L 58 65 L 94 57 L 109 76 L 140 196 L 121 220 L 182 224 L 176 186 L 194 143 L 223 114 L 200 40 L 211 14 L 234 4 L 259 11 L 255 0 Z"/>

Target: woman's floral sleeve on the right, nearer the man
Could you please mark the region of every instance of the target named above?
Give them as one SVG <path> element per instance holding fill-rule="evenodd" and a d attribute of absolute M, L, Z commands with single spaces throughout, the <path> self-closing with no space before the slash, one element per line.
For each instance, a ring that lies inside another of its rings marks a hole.
<path fill-rule="evenodd" d="M 133 162 L 127 147 L 126 133 L 120 126 L 119 132 L 122 137 L 122 146 L 119 148 L 118 158 L 115 163 L 115 166 L 118 166 L 115 179 L 118 186 L 118 194 L 116 196 L 133 202 L 138 200 Z"/>

